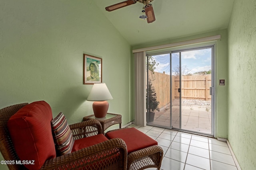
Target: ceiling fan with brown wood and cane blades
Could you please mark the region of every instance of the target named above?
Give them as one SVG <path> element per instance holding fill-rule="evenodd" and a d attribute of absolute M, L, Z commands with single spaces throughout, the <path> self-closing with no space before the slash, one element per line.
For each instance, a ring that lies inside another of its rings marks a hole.
<path fill-rule="evenodd" d="M 114 10 L 117 10 L 119 8 L 123 8 L 125 6 L 135 4 L 136 2 L 140 2 L 140 3 L 145 5 L 145 7 L 144 7 L 145 10 L 142 10 L 142 12 L 145 12 L 145 14 L 147 16 L 148 23 L 152 23 L 156 20 L 154 10 L 153 10 L 153 6 L 152 6 L 152 4 L 149 4 L 152 1 L 153 0 L 126 0 L 126 1 L 120 2 L 118 4 L 108 6 L 105 9 L 107 11 L 114 11 Z"/>

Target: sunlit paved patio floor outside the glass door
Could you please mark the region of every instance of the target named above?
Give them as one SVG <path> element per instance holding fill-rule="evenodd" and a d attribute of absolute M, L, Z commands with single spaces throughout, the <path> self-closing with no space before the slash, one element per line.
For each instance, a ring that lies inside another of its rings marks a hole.
<path fill-rule="evenodd" d="M 180 128 L 179 99 L 172 101 L 172 127 Z M 211 134 L 211 101 L 182 99 L 181 129 Z M 170 103 L 155 112 L 150 124 L 170 127 Z"/>

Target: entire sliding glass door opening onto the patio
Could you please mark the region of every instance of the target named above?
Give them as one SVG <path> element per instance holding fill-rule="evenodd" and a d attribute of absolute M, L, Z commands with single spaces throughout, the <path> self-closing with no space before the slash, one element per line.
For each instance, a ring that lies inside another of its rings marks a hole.
<path fill-rule="evenodd" d="M 213 135 L 213 58 L 213 46 L 147 56 L 148 125 Z"/>

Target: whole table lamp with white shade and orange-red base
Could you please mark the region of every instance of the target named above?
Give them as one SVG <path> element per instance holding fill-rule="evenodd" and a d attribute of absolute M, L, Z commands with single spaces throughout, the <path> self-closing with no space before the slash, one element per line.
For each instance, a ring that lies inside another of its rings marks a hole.
<path fill-rule="evenodd" d="M 87 98 L 88 101 L 94 101 L 92 109 L 95 117 L 105 117 L 108 112 L 108 102 L 112 100 L 112 96 L 105 83 L 94 83 L 92 90 Z"/>

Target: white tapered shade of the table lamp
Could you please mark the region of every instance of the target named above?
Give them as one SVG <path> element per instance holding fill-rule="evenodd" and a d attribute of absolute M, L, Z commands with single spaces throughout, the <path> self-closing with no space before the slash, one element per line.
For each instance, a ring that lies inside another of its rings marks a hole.
<path fill-rule="evenodd" d="M 113 97 L 105 83 L 94 83 L 87 98 L 88 101 L 105 101 L 111 99 L 113 99 Z"/>

